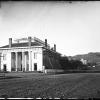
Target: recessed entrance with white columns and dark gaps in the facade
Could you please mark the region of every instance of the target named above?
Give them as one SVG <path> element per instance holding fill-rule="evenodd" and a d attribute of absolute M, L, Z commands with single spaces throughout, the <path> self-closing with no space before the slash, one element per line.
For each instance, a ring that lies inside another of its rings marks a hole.
<path fill-rule="evenodd" d="M 11 71 L 31 71 L 31 54 L 28 51 L 11 52 Z"/>

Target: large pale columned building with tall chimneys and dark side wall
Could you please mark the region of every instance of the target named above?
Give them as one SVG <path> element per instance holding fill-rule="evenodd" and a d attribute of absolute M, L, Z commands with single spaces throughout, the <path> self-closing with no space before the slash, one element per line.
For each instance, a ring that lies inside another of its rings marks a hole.
<path fill-rule="evenodd" d="M 0 70 L 2 71 L 41 71 L 46 69 L 61 69 L 60 53 L 56 45 L 50 45 L 34 37 L 14 40 L 9 38 L 9 44 L 0 47 Z"/>

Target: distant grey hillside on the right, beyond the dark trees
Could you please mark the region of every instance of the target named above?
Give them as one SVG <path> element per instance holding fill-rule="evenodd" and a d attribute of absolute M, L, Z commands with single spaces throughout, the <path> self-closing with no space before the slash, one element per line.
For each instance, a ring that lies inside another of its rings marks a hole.
<path fill-rule="evenodd" d="M 100 63 L 100 52 L 90 52 L 88 54 L 76 55 L 72 59 L 80 60 L 81 58 L 87 60 L 90 63 Z"/>

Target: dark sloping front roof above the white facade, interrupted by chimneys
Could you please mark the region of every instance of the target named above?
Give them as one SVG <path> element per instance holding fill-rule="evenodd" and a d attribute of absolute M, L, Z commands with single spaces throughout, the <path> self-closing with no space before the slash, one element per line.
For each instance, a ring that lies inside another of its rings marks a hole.
<path fill-rule="evenodd" d="M 31 46 L 42 46 L 42 45 L 37 43 L 37 42 L 31 42 Z M 12 47 L 28 47 L 28 42 L 13 43 Z M 0 48 L 9 48 L 9 45 L 5 45 L 5 46 L 2 46 Z"/>

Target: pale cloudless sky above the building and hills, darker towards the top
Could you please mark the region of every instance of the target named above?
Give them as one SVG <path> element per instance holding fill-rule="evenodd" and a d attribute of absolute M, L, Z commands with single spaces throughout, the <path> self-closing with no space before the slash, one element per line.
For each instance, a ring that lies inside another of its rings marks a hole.
<path fill-rule="evenodd" d="M 28 36 L 66 56 L 100 52 L 100 2 L 1 2 L 0 46 Z"/>

